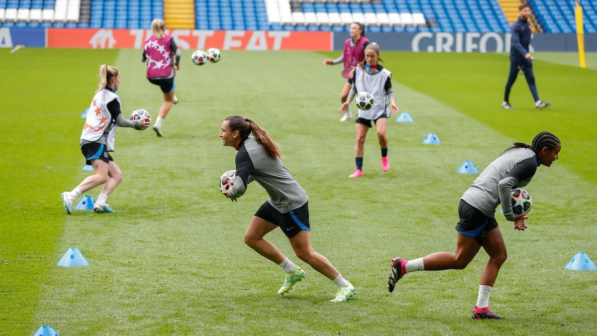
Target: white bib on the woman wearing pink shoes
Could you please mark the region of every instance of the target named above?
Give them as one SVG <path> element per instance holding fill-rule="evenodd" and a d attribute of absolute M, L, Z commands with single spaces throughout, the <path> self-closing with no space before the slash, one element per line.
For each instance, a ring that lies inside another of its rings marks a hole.
<path fill-rule="evenodd" d="M 367 74 L 365 69 L 357 66 L 355 68 L 355 87 L 356 94 L 362 91 L 367 91 L 373 94 L 374 103 L 370 109 L 363 111 L 359 109 L 357 118 L 363 118 L 367 120 L 376 120 L 381 115 L 386 114 L 390 116 L 390 109 L 387 106 L 387 95 L 386 95 L 386 81 L 392 77 L 392 72 L 386 68 L 381 69 L 380 72 L 374 75 Z"/>

